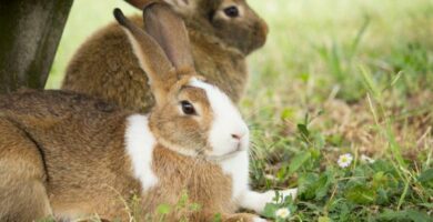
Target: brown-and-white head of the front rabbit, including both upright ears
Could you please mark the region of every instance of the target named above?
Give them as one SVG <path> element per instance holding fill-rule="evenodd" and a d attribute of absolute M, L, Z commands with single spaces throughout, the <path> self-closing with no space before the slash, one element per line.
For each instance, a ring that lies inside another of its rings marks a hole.
<path fill-rule="evenodd" d="M 148 4 L 145 31 L 119 9 L 114 16 L 148 73 L 155 98 L 149 125 L 157 140 L 182 154 L 205 159 L 245 151 L 245 122 L 228 95 L 197 74 L 185 26 L 170 7 Z"/>

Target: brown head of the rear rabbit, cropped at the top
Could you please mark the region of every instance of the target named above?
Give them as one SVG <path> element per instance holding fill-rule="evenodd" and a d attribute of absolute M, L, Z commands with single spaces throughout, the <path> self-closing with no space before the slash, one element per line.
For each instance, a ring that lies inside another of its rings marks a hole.
<path fill-rule="evenodd" d="M 143 9 L 157 0 L 127 0 Z M 246 0 L 160 0 L 180 13 L 189 27 L 221 39 L 228 47 L 244 54 L 261 48 L 268 36 L 268 26 Z"/>

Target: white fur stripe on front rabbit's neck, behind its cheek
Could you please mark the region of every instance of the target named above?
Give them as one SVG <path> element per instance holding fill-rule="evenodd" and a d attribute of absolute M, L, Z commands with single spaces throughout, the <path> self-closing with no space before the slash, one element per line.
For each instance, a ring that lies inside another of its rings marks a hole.
<path fill-rule="evenodd" d="M 134 114 L 128 118 L 124 141 L 134 176 L 140 180 L 143 191 L 152 188 L 158 183 L 158 178 L 152 171 L 157 141 L 149 129 L 148 117 Z"/>

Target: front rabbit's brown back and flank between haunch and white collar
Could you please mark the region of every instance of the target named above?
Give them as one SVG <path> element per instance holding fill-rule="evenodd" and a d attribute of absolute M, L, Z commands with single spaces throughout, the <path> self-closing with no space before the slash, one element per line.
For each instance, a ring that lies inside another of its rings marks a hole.
<path fill-rule="evenodd" d="M 64 220 L 94 212 L 128 216 L 120 200 L 139 192 L 140 182 L 124 149 L 127 113 L 87 95 L 33 90 L 0 97 L 0 120 L 23 133 L 17 141 L 37 148 L 32 160 L 21 160 L 40 163 L 38 181 L 47 189 L 50 212 Z M 27 157 L 22 144 L 0 143 L 0 152 L 11 147 Z"/>

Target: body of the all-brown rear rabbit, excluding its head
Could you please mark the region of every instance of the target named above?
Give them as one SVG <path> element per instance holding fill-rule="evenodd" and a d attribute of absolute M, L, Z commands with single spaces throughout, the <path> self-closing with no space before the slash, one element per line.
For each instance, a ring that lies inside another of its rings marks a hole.
<path fill-rule="evenodd" d="M 143 27 L 141 17 L 131 20 Z M 190 30 L 189 36 L 198 73 L 238 102 L 248 80 L 245 57 L 201 32 Z M 81 46 L 68 65 L 62 89 L 101 98 L 131 111 L 149 112 L 154 105 L 148 77 L 124 31 L 114 23 Z"/>

